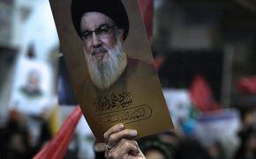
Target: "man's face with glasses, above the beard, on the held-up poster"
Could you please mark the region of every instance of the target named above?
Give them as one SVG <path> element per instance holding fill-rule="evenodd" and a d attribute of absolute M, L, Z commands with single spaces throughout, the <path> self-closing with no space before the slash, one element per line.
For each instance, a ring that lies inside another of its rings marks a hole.
<path fill-rule="evenodd" d="M 92 54 L 96 61 L 107 61 L 108 50 L 117 44 L 117 38 L 122 41 L 123 30 L 117 30 L 116 27 L 108 16 L 100 12 L 86 13 L 81 18 L 80 24 L 85 53 Z M 97 31 L 99 31 L 98 35 Z"/>

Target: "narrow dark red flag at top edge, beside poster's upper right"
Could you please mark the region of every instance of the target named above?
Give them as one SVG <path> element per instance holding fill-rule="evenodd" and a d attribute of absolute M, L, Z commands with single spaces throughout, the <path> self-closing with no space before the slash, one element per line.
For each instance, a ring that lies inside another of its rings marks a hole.
<path fill-rule="evenodd" d="M 154 4 L 152 0 L 139 0 L 139 11 L 142 15 L 144 24 L 147 29 L 148 40 L 152 41 L 153 35 L 153 11 Z"/>

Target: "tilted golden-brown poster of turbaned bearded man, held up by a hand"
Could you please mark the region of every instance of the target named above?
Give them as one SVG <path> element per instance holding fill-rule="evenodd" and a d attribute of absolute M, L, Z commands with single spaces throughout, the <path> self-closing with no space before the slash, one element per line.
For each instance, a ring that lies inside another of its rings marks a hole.
<path fill-rule="evenodd" d="M 97 141 L 117 123 L 139 137 L 173 127 L 137 1 L 50 4 L 76 98 Z"/>

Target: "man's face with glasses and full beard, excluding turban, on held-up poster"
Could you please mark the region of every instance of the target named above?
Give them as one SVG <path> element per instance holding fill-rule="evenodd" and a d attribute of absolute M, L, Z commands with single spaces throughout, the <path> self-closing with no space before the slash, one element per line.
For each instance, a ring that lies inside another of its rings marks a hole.
<path fill-rule="evenodd" d="M 123 29 L 100 12 L 87 12 L 80 22 L 87 69 L 99 89 L 107 89 L 124 72 L 127 59 L 122 49 Z"/>

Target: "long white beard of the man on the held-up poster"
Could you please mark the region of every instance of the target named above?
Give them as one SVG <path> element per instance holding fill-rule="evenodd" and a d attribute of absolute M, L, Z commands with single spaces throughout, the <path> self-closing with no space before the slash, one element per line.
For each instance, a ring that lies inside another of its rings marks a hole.
<path fill-rule="evenodd" d="M 86 54 L 87 69 L 92 83 L 99 89 L 108 89 L 122 75 L 127 64 L 126 54 L 122 50 L 120 40 L 113 49 L 109 49 L 107 61 L 96 60 L 93 55 Z"/>

